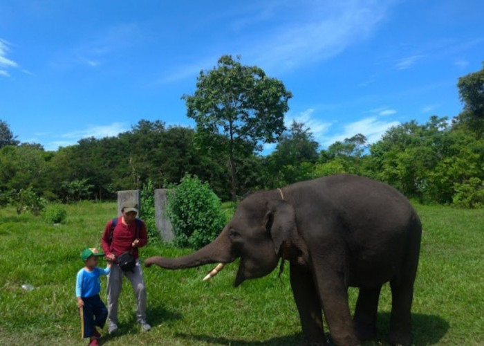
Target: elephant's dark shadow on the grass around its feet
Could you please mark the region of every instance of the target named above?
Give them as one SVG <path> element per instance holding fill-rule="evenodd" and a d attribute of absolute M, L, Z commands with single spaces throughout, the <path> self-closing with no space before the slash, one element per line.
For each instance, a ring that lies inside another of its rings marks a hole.
<path fill-rule="evenodd" d="M 364 346 L 389 345 L 387 343 L 388 326 L 390 313 L 378 313 L 378 335 L 375 340 L 366 341 Z M 449 323 L 443 318 L 435 315 L 424 315 L 422 313 L 412 314 L 412 332 L 414 346 L 438 345 L 440 340 L 447 334 Z M 235 338 L 196 335 L 188 333 L 177 333 L 178 338 L 204 342 L 210 345 L 232 345 L 232 346 L 295 346 L 304 345 L 304 335 L 302 333 L 279 336 L 263 341 L 238 340 Z M 328 336 L 328 335 L 327 335 Z M 331 344 L 330 344 L 331 345 Z"/>

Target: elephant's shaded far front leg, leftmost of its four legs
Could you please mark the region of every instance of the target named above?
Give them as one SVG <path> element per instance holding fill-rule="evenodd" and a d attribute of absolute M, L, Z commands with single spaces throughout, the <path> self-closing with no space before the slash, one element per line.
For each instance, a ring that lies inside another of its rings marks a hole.
<path fill-rule="evenodd" d="M 311 345 L 326 345 L 321 302 L 312 275 L 301 266 L 290 263 L 290 284 L 304 336 Z"/>

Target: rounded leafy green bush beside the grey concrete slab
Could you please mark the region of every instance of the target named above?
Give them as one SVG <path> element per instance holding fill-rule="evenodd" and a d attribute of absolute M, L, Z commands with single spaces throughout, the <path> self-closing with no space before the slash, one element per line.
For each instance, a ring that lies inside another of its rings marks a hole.
<path fill-rule="evenodd" d="M 225 225 L 221 201 L 196 176 L 189 174 L 179 185 L 171 185 L 167 213 L 177 246 L 201 248 L 212 242 Z"/>

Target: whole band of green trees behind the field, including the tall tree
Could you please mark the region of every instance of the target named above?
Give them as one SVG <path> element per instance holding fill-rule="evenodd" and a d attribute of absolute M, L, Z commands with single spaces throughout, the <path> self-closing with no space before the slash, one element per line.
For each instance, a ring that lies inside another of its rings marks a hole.
<path fill-rule="evenodd" d="M 484 208 L 484 67 L 459 78 L 463 111 L 454 118 L 432 115 L 425 123 L 391 127 L 371 143 L 355 134 L 319 149 L 304 123 L 294 121 L 284 131 L 291 95 L 282 83 L 238 60 L 223 56 L 214 69 L 201 71 L 195 93 L 183 96 L 195 129 L 140 120 L 118 136 L 46 151 L 18 143 L 0 119 L 0 206 L 38 214 L 44 199 L 111 200 L 119 190 L 146 184 L 169 188 L 186 173 L 206 181 L 222 201 L 237 201 L 344 172 L 389 183 L 420 203 Z M 259 155 L 263 143 L 277 144 Z M 151 191 L 146 196 L 153 198 Z M 151 208 L 147 203 L 142 217 L 158 237 Z"/>

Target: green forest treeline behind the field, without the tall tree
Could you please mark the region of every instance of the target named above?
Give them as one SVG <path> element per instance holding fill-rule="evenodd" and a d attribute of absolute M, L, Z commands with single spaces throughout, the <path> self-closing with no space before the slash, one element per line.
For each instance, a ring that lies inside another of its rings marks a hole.
<path fill-rule="evenodd" d="M 199 140 L 197 129 L 140 120 L 129 131 L 84 138 L 46 151 L 19 143 L 0 119 L 0 206 L 29 189 L 48 201 L 113 199 L 118 190 L 178 183 L 185 174 L 207 181 L 223 201 L 261 189 L 348 172 L 385 181 L 422 203 L 484 206 L 484 68 L 458 80 L 463 110 L 453 119 L 431 116 L 386 131 L 368 145 L 362 134 L 320 149 L 304 123 L 293 122 L 267 156 L 254 147 L 232 152 L 227 137 Z M 241 147 L 243 147 L 243 141 Z M 236 180 L 231 179 L 232 167 Z"/>

